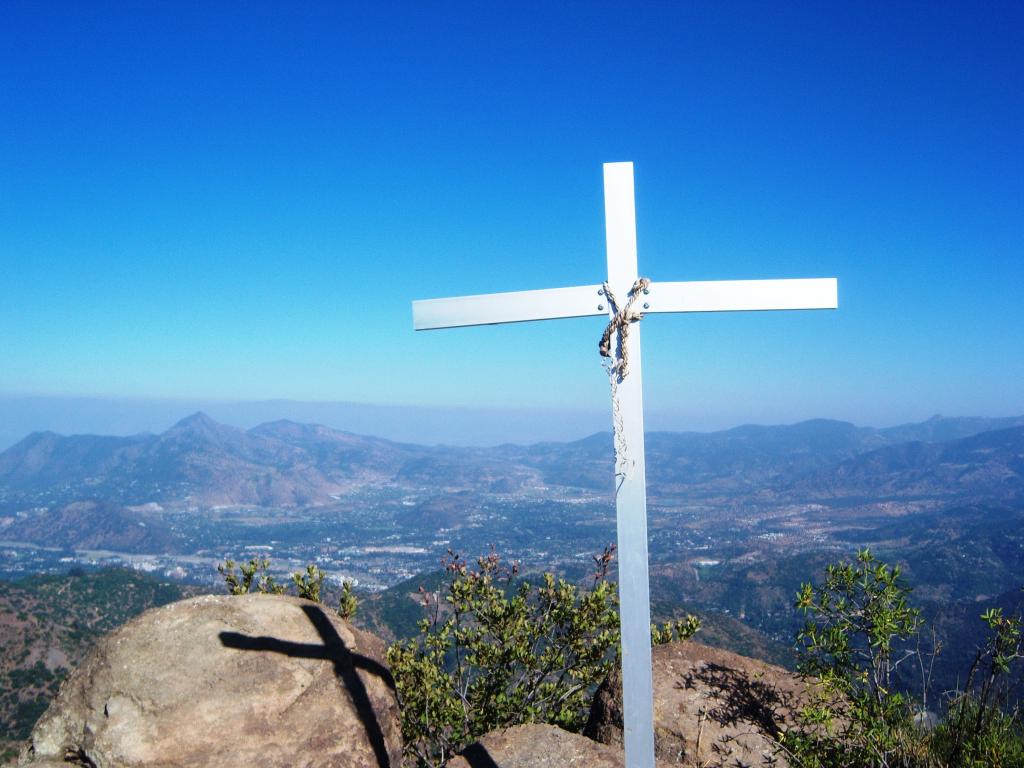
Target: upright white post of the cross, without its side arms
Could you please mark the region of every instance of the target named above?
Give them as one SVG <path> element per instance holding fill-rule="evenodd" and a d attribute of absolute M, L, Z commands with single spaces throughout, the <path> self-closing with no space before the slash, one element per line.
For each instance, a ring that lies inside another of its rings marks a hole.
<path fill-rule="evenodd" d="M 618 301 L 625 302 L 638 278 L 632 163 L 606 163 L 604 166 L 604 227 L 608 286 Z M 642 298 L 638 297 L 637 301 L 642 301 Z M 610 314 L 610 302 L 608 310 Z M 629 349 L 623 351 L 630 367 L 627 375 L 613 383 L 611 402 L 616 433 L 615 527 L 623 644 L 623 735 L 626 765 L 629 768 L 654 768 L 647 481 L 639 323 L 633 324 L 626 344 Z M 610 375 L 617 376 L 614 372 Z"/>

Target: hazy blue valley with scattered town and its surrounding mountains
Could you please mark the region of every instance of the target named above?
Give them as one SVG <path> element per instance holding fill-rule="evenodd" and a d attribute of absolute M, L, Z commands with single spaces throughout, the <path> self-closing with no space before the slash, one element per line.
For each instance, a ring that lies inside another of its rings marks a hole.
<path fill-rule="evenodd" d="M 964 673 L 982 610 L 1024 603 L 1024 419 L 652 433 L 647 454 L 652 611 L 696 612 L 703 642 L 792 665 L 797 589 L 865 546 L 903 567 L 936 626 L 940 688 Z M 39 580 L 130 573 L 164 585 L 141 610 L 158 594 L 220 592 L 219 563 L 266 557 L 282 583 L 307 563 L 332 593 L 354 581 L 360 622 L 408 636 L 418 587 L 450 549 L 494 547 L 526 574 L 585 583 L 615 541 L 611 465 L 610 434 L 453 449 L 290 422 L 246 431 L 200 414 L 161 435 L 31 435 L 0 454 L 0 599 L 36 615 L 39 600 L 12 600 Z M 93 608 L 99 621 L 106 608 Z M 53 642 L 37 640 L 63 637 L 67 623 L 43 623 L 0 621 L 23 649 L 10 680 L 36 680 L 9 694 L 18 723 L 84 647 L 44 652 Z"/>

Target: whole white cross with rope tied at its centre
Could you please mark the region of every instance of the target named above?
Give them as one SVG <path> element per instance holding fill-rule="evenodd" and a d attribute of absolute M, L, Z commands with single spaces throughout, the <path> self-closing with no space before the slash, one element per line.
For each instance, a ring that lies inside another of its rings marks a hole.
<path fill-rule="evenodd" d="M 637 281 L 633 164 L 605 163 L 604 218 L 608 287 L 620 307 Z M 612 314 L 601 285 L 543 291 L 461 296 L 413 302 L 417 331 L 460 326 Z M 720 312 L 750 309 L 835 309 L 835 278 L 815 280 L 651 283 L 635 309 L 652 312 Z M 640 307 L 642 306 L 642 309 Z M 614 344 L 612 348 L 614 349 Z M 650 658 L 650 594 L 647 577 L 647 489 L 643 444 L 640 329 L 628 339 L 629 371 L 612 387 L 616 431 L 615 512 L 618 531 L 618 596 L 623 643 L 623 711 L 626 765 L 654 768 L 653 686 Z M 625 472 L 622 471 L 624 461 Z"/>

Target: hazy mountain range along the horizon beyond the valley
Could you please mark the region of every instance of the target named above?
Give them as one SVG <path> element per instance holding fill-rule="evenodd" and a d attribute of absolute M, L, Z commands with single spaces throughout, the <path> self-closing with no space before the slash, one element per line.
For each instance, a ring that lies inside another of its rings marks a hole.
<path fill-rule="evenodd" d="M 1024 497 L 1024 417 L 654 432 L 646 452 L 655 499 Z M 76 502 L 310 507 L 373 486 L 603 495 L 612 464 L 609 433 L 534 445 L 425 446 L 291 421 L 244 430 L 197 413 L 162 434 L 31 434 L 0 454 L 0 511 Z"/>

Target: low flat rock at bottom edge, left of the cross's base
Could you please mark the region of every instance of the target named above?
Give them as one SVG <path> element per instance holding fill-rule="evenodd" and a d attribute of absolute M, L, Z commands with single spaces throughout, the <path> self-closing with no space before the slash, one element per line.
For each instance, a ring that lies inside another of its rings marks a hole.
<path fill-rule="evenodd" d="M 554 725 L 517 725 L 467 746 L 447 768 L 623 768 L 622 746 L 598 743 Z M 663 761 L 657 768 L 668 768 Z"/>

